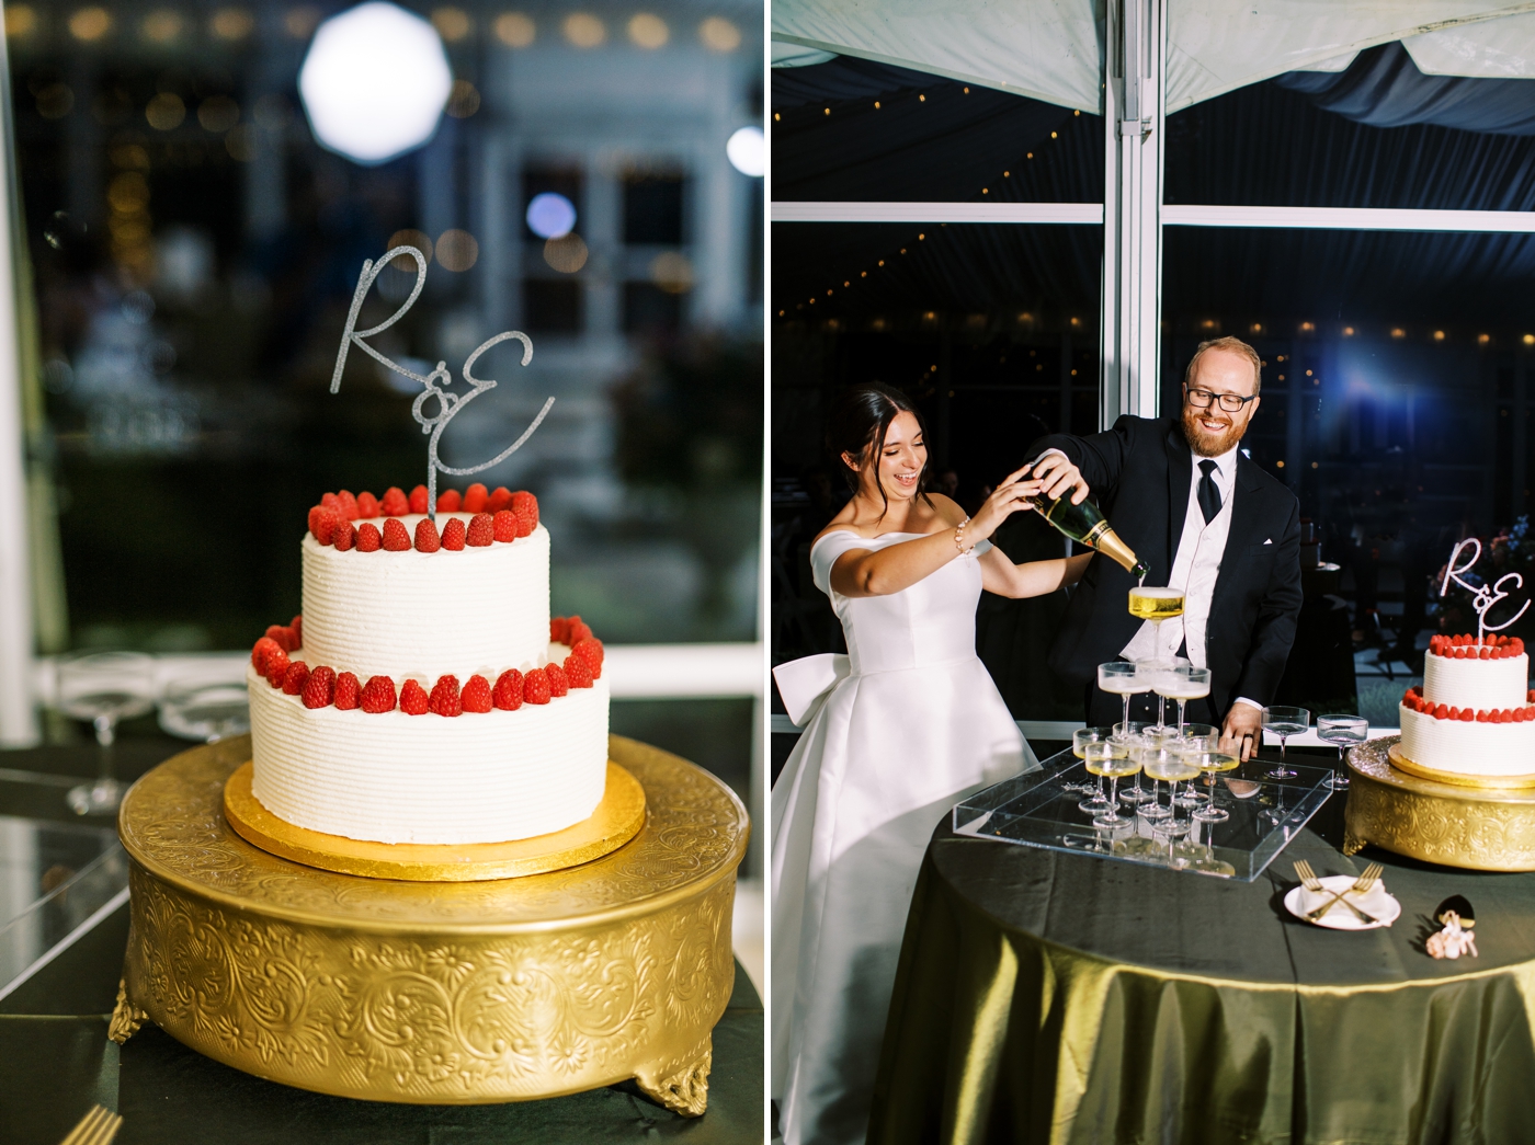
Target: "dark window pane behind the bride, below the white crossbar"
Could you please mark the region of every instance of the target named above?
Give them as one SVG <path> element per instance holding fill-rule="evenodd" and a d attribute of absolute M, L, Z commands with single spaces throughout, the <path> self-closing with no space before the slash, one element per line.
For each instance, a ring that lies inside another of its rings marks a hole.
<path fill-rule="evenodd" d="M 1096 431 L 1101 264 L 1101 227 L 774 226 L 775 663 L 841 648 L 809 566 L 849 496 L 821 444 L 832 396 L 878 381 L 915 398 L 932 487 L 973 510 L 1036 437 Z M 1015 560 L 1065 549 L 1035 514 L 995 540 Z M 1081 715 L 1044 666 L 1064 608 L 982 597 L 978 649 L 1016 718 Z"/>

